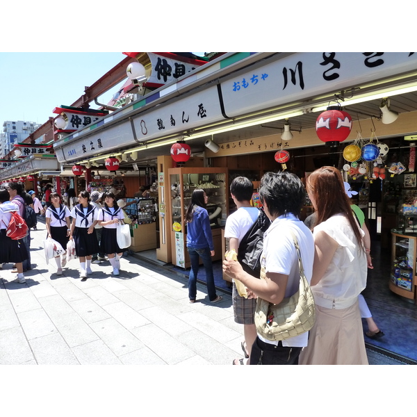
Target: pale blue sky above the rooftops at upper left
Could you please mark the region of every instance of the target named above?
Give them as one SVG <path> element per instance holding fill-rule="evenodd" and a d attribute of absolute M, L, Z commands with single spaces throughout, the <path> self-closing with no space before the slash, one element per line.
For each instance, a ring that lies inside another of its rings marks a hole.
<path fill-rule="evenodd" d="M 28 120 L 43 124 L 54 107 L 70 106 L 120 63 L 122 52 L 0 52 L 0 123 Z M 121 83 L 123 84 L 123 83 Z M 117 86 L 99 97 L 108 103 Z M 97 108 L 94 101 L 90 104 Z"/>

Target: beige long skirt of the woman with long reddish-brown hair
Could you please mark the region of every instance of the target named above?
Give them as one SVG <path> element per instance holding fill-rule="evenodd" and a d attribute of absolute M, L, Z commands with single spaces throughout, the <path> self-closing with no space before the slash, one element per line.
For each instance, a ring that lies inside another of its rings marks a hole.
<path fill-rule="evenodd" d="M 316 305 L 316 322 L 300 365 L 368 365 L 359 304 L 347 309 Z"/>

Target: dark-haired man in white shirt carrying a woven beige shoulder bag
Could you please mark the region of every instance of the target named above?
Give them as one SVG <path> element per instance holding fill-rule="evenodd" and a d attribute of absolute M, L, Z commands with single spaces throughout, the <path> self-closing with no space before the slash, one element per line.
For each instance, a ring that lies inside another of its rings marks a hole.
<path fill-rule="evenodd" d="M 304 274 L 311 281 L 314 241 L 311 231 L 298 219 L 305 202 L 306 190 L 300 179 L 290 172 L 268 172 L 261 180 L 261 202 L 272 224 L 263 237 L 261 264 L 266 279 L 247 274 L 236 261 L 224 261 L 224 272 L 239 279 L 249 295 L 279 304 L 291 297 L 300 286 L 297 251 L 290 231 L 300 245 Z M 284 341 L 268 341 L 258 334 L 252 346 L 250 365 L 296 365 L 308 332 Z"/>

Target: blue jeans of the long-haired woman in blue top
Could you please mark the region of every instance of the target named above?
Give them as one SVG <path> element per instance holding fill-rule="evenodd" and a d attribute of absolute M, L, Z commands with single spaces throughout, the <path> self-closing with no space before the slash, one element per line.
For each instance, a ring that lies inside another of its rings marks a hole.
<path fill-rule="evenodd" d="M 204 270 L 206 270 L 208 298 L 210 301 L 215 300 L 217 294 L 215 293 L 213 263 L 211 262 L 210 248 L 204 247 L 202 249 L 197 249 L 188 246 L 187 250 L 191 261 L 190 278 L 188 279 L 188 297 L 190 300 L 195 300 L 195 297 L 197 297 L 197 273 L 199 268 L 199 257 L 201 256 Z"/>

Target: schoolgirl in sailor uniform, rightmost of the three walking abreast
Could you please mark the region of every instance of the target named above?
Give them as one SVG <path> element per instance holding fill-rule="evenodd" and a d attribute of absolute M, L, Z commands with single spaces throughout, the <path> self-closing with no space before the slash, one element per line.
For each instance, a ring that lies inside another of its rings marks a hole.
<path fill-rule="evenodd" d="M 124 214 L 117 206 L 113 193 L 104 193 L 104 207 L 99 213 L 99 224 L 103 226 L 101 231 L 100 252 L 107 254 L 108 260 L 113 266 L 113 275 L 120 275 L 120 258 L 123 255 L 124 247 L 117 245 L 117 224 L 123 224 Z"/>

